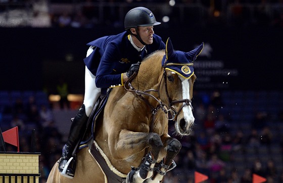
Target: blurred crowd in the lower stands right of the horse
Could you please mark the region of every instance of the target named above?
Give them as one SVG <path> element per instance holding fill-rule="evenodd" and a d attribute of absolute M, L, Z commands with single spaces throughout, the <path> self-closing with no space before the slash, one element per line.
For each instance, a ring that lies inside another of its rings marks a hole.
<path fill-rule="evenodd" d="M 281 156 L 283 139 L 281 135 L 277 139 L 272 132 L 270 123 L 273 121 L 267 112 L 255 111 L 252 120 L 241 128 L 235 126 L 241 121 L 235 121 L 221 111 L 225 103 L 219 91 L 212 92 L 210 96 L 195 93 L 194 98 L 194 131 L 187 137 L 175 137 L 182 143 L 182 149 L 175 158 L 178 166 L 167 173 L 164 182 L 194 182 L 195 171 L 207 175 L 209 179 L 205 182 L 211 183 L 253 182 L 253 173 L 266 177 L 269 183 L 283 182 L 283 171 L 278 167 L 283 160 L 275 162 L 277 160 L 273 159 Z M 281 115 L 282 112 L 279 112 L 275 119 L 280 121 L 277 124 L 280 127 L 283 126 Z M 276 155 L 274 144 L 280 149 Z"/>

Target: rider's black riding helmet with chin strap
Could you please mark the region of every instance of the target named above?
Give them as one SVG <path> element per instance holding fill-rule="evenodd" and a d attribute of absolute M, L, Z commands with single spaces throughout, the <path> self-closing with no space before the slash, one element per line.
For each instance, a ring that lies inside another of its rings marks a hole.
<path fill-rule="evenodd" d="M 124 26 L 125 30 L 128 31 L 131 35 L 135 36 L 139 42 L 144 45 L 147 45 L 143 40 L 141 40 L 139 33 L 138 33 L 138 26 L 147 27 L 147 26 L 154 26 L 159 25 L 160 22 L 155 20 L 153 13 L 144 7 L 137 7 L 131 9 L 125 16 Z M 130 29 L 135 28 L 137 34 L 133 34 Z"/>

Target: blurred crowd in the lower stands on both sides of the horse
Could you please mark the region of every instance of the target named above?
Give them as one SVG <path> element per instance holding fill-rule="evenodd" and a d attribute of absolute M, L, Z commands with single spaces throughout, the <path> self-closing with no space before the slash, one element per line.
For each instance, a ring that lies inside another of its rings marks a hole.
<path fill-rule="evenodd" d="M 177 167 L 167 172 L 165 183 L 194 182 L 195 171 L 207 175 L 209 179 L 205 182 L 211 183 L 252 182 L 253 173 L 266 177 L 268 183 L 283 182 L 282 166 L 276 166 L 278 162 L 274 159 L 275 156 L 281 156 L 279 159 L 282 161 L 282 134 L 275 134 L 272 132 L 274 127 L 271 127 L 274 121 L 282 126 L 282 112 L 272 121 L 267 112 L 255 112 L 254 118 L 246 126 L 235 128 L 235 123 L 241 122 L 233 121 L 222 112 L 221 108 L 225 103 L 219 91 L 209 95 L 195 92 L 193 105 L 196 121 L 190 136 L 177 136 L 173 121 L 169 121 L 169 134 L 181 142 L 182 149 L 174 158 Z M 3 114 L 13 115 L 9 128 L 19 127 L 20 152 L 31 152 L 33 149 L 30 147 L 30 130 L 35 129 L 35 149 L 36 152 L 41 152 L 40 182 L 46 181 L 51 168 L 61 157 L 65 143 L 54 123 L 52 110 L 52 105 L 39 105 L 34 96 L 30 96 L 26 102 L 17 99 L 13 105 L 2 110 Z M 68 121 L 66 119 L 62 123 Z M 3 125 L 3 120 L 1 124 Z M 275 146 L 279 146 L 279 152 L 274 152 Z M 8 151 L 13 152 L 16 149 L 8 145 Z M 242 163 L 237 164 L 236 155 L 243 157 Z M 252 164 L 247 163 L 250 159 Z"/>

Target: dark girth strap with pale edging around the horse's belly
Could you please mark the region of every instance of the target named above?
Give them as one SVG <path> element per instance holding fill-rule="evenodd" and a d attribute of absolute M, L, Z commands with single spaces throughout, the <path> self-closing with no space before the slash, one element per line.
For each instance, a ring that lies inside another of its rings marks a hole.
<path fill-rule="evenodd" d="M 99 151 L 99 149 L 98 149 L 98 147 L 96 146 L 95 143 L 92 143 L 90 153 L 93 156 L 93 158 L 96 159 L 96 161 L 100 165 L 102 171 L 105 173 L 105 175 L 107 177 L 107 181 L 105 181 L 105 182 L 109 182 L 109 183 L 117 183 L 117 182 L 123 183 L 123 182 L 125 182 L 126 178 L 117 175 L 116 173 L 114 173 L 110 169 L 106 160 L 104 159 L 104 157 L 100 153 L 100 151 Z"/>

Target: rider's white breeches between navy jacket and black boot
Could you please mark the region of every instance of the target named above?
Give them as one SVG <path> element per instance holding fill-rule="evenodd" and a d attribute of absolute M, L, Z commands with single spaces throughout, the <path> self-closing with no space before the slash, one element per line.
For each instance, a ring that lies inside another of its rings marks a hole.
<path fill-rule="evenodd" d="M 90 46 L 87 50 L 86 56 L 88 56 L 92 51 L 93 46 Z M 85 113 L 89 117 L 93 107 L 95 106 L 98 97 L 100 96 L 101 89 L 96 86 L 96 76 L 93 75 L 85 66 L 85 76 L 84 76 L 84 100 L 83 104 L 85 106 Z"/>

